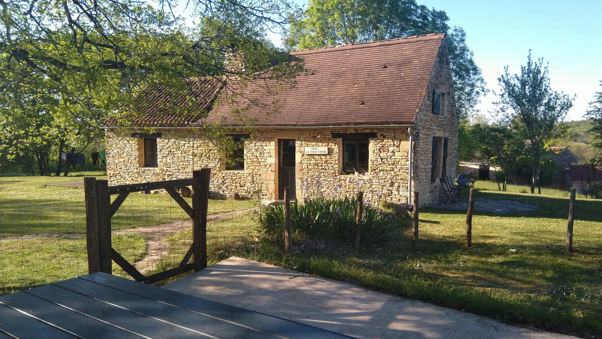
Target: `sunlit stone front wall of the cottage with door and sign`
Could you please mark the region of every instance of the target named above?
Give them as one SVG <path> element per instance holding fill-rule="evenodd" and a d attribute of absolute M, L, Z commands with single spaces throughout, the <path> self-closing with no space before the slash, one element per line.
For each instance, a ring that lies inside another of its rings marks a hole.
<path fill-rule="evenodd" d="M 332 133 L 377 133 L 370 138 L 368 174 L 341 175 L 341 139 Z M 190 130 L 170 130 L 157 139 L 157 167 L 143 166 L 143 139 L 129 134 L 106 134 L 107 176 L 110 185 L 181 179 L 193 170 L 211 168 L 214 196 L 267 200 L 278 198 L 278 139 L 296 139 L 297 198 L 350 196 L 364 192 L 366 200 L 396 203 L 408 197 L 408 132 L 405 128 L 341 128 L 256 130 L 244 147 L 245 169 L 225 170 L 219 151 Z M 305 147 L 326 146 L 328 154 L 305 154 Z"/>

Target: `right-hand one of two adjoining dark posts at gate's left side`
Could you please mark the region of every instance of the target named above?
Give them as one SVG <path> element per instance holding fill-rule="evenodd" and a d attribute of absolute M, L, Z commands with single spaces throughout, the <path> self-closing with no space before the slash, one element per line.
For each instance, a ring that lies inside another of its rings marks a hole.
<path fill-rule="evenodd" d="M 98 238 L 101 259 L 101 272 L 113 274 L 111 249 L 111 195 L 108 180 L 96 180 L 98 194 Z"/>

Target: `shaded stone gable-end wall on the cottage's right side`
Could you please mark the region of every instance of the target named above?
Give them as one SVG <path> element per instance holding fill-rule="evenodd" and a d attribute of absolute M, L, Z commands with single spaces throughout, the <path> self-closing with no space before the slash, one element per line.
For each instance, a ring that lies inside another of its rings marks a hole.
<path fill-rule="evenodd" d="M 445 164 L 448 176 L 456 177 L 456 164 L 458 163 L 458 115 L 454 99 L 452 69 L 450 68 L 445 43 L 439 48 L 437 60 L 429 85 L 425 89 L 425 97 L 416 116 L 416 135 L 414 153 L 414 189 L 420 192 L 420 204 L 427 204 L 441 194 L 439 179 L 431 182 L 432 169 L 432 142 L 433 136 L 447 137 L 447 163 Z M 441 115 L 432 113 L 433 91 L 440 90 L 445 93 L 445 107 Z"/>

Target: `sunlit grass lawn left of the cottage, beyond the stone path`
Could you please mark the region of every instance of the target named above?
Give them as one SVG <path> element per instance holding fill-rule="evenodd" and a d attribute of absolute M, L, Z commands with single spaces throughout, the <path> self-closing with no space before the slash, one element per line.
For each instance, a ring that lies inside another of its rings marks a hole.
<path fill-rule="evenodd" d="M 84 233 L 84 189 L 43 187 L 81 181 L 82 177 L 0 177 L 0 236 L 36 233 Z M 112 198 L 116 198 L 113 195 Z M 190 198 L 185 198 L 191 203 Z M 209 214 L 249 209 L 253 200 L 209 200 Z M 169 194 L 130 194 L 112 220 L 113 229 L 185 220 L 188 216 Z"/>

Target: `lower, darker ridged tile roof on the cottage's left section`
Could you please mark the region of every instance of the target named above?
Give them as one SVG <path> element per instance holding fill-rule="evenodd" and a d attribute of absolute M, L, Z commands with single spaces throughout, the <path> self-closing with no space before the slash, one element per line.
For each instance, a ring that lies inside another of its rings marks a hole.
<path fill-rule="evenodd" d="M 222 89 L 222 81 L 213 78 L 198 78 L 187 81 L 188 90 L 185 93 L 174 93 L 166 86 L 157 86 L 153 89 L 144 90 L 146 104 L 140 107 L 143 115 L 132 115 L 128 118 L 127 113 L 123 120 L 128 127 L 184 127 L 200 118 L 202 109 L 210 109 L 211 104 L 217 98 Z M 194 97 L 194 100 L 192 99 Z M 194 105 L 198 109 L 190 113 L 174 115 L 173 107 L 186 107 Z M 110 117 L 105 121 L 106 126 L 116 126 L 117 118 Z"/>

